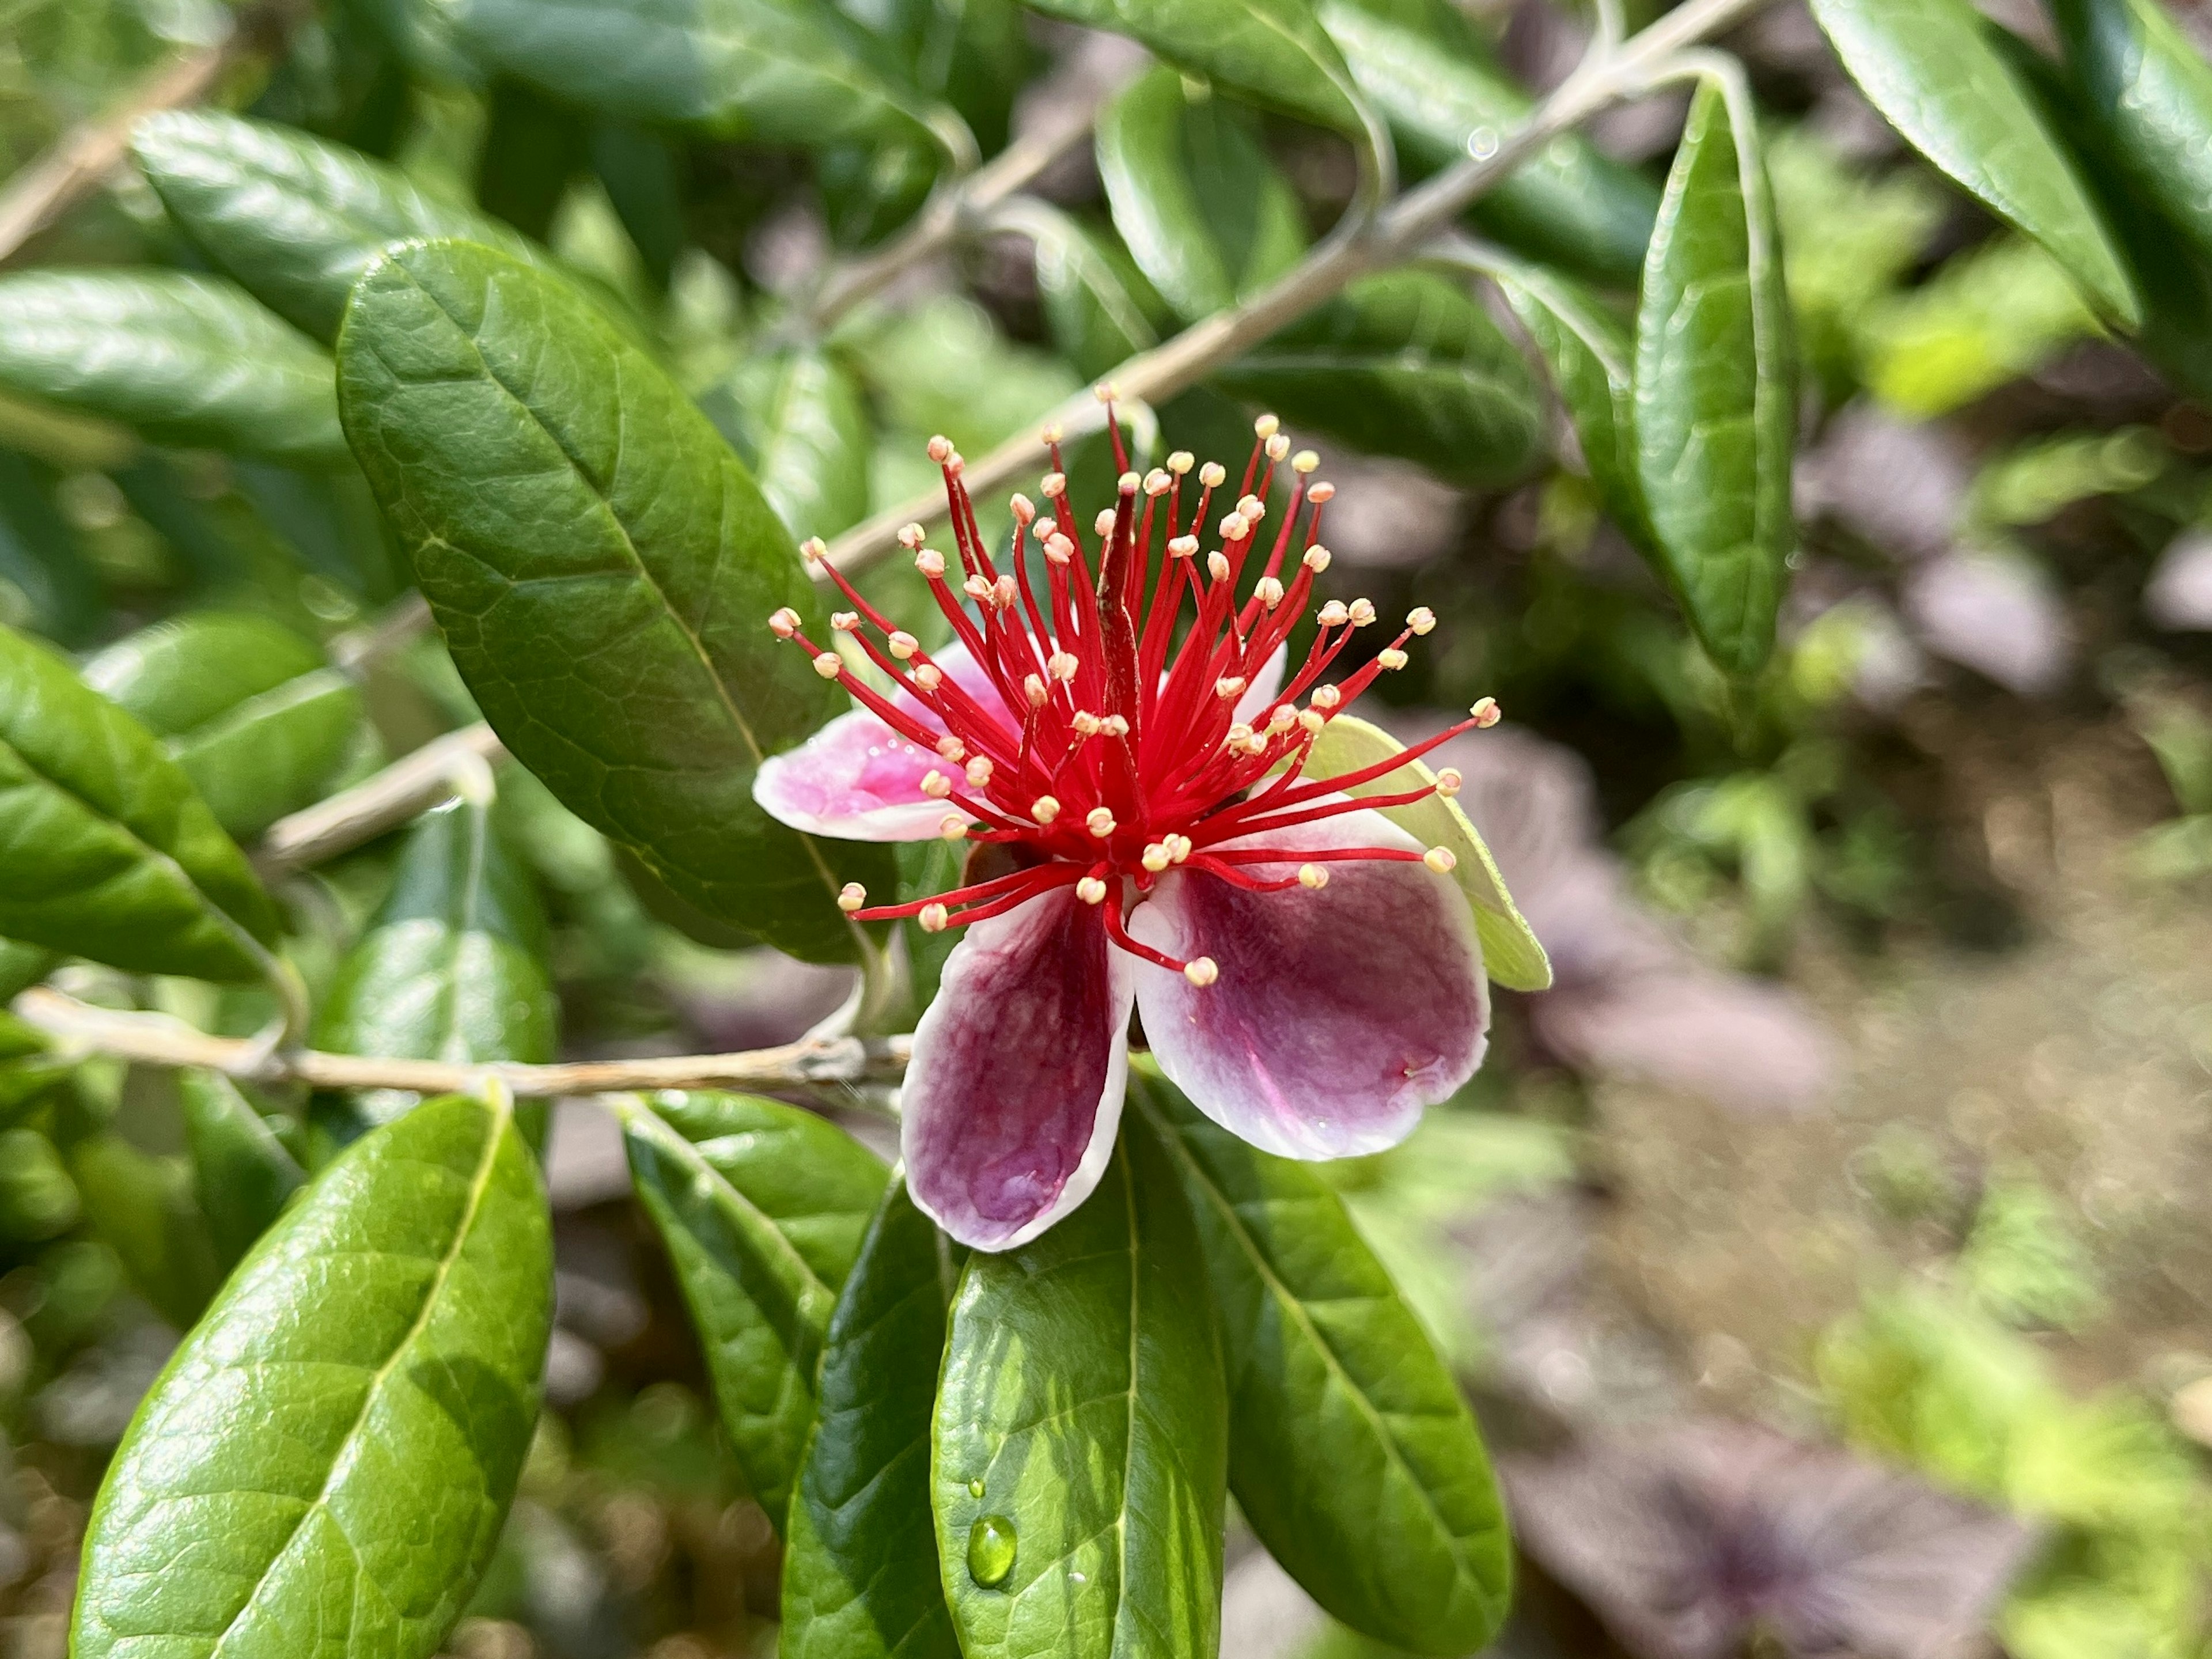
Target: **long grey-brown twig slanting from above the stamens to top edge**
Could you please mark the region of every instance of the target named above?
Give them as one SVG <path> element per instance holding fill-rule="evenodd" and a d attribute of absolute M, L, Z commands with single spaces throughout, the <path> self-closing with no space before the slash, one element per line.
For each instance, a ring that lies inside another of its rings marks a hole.
<path fill-rule="evenodd" d="M 1564 80 L 1528 119 L 1506 135 L 1495 150 L 1460 161 L 1427 184 L 1407 190 L 1376 219 L 1374 234 L 1349 241 L 1332 239 L 1314 248 L 1298 265 L 1265 290 L 1225 312 L 1192 323 L 1181 334 L 1139 352 L 1104 376 L 1126 403 L 1159 405 L 1177 392 L 1197 385 L 1212 369 L 1241 356 L 1276 330 L 1338 294 L 1347 283 L 1374 270 L 1405 263 L 1422 243 L 1444 230 L 1478 197 L 1491 190 L 1513 168 L 1559 133 L 1590 119 L 1599 111 L 1641 95 L 1655 75 L 1683 46 L 1705 40 L 1767 0 L 1688 0 L 1613 51 L 1597 51 Z M 1088 392 L 1048 411 L 1040 427 L 1057 425 L 1071 438 L 1104 427 L 1104 409 Z M 975 493 L 998 489 L 1046 458 L 1037 427 L 1015 434 L 989 456 L 967 462 L 967 487 Z M 883 557 L 898 544 L 900 524 L 929 524 L 945 515 L 942 491 L 927 491 L 876 513 L 830 544 L 830 560 L 856 571 Z"/>

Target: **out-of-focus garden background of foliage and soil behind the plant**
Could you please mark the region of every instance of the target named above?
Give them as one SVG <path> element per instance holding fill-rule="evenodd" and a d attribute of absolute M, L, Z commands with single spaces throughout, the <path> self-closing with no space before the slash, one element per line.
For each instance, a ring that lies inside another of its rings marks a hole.
<path fill-rule="evenodd" d="M 1124 42 L 998 0 L 841 11 L 856 51 L 953 104 L 987 155 L 1146 73 Z M 1336 142 L 1190 102 L 1152 69 L 1031 206 L 807 341 L 794 307 L 920 208 L 927 146 L 580 111 L 478 73 L 440 15 L 288 11 L 281 46 L 241 60 L 217 102 L 542 239 L 657 345 L 801 535 L 927 489 L 931 434 L 982 453 L 1252 292 L 1354 188 Z M 2205 13 L 2174 15 L 2203 51 Z M 0 173 L 230 22 L 219 0 L 0 0 Z M 1566 73 L 1590 18 L 1471 0 L 1464 27 L 1509 119 Z M 1995 1608 L 2020 1659 L 2201 1657 L 2208 387 L 2181 356 L 2161 378 L 2112 341 L 2051 254 L 1902 150 L 1803 9 L 1730 44 L 1767 131 L 1803 356 L 1803 544 L 1759 679 L 1694 648 L 1533 372 L 1517 429 L 1411 431 L 1374 414 L 1396 407 L 1380 369 L 1371 403 L 1332 407 L 1263 358 L 1159 411 L 1175 445 L 1228 462 L 1263 403 L 1323 442 L 1334 591 L 1442 617 L 1378 688 L 1394 721 L 1413 732 L 1478 695 L 1509 710 L 1451 759 L 1559 987 L 1509 1000 L 1493 1064 L 1409 1146 L 1332 1175 L 1506 1449 L 1528 1520 L 1506 1652 L 1812 1650 L 1812 1584 L 1858 1608 L 1836 1650 L 1933 1655 Z M 1546 166 L 1586 206 L 1648 215 L 1683 108 L 1610 113 L 1595 148 Z M 1188 197 L 1130 184 L 1161 144 L 1190 164 Z M 1400 148 L 1413 173 L 1444 159 L 1418 133 Z M 1531 223 L 1511 195 L 1480 228 L 1613 290 L 1641 257 L 1635 226 Z M 1144 234 L 1219 259 L 1168 281 L 1133 254 Z M 27 263 L 206 268 L 133 173 Z M 1489 372 L 1522 378 L 1511 356 Z M 900 584 L 874 577 L 911 615 Z M 378 635 L 403 593 L 349 467 L 164 447 L 0 396 L 0 619 L 137 695 L 239 836 L 473 719 L 434 639 Z M 261 677 L 195 688 L 190 664 L 164 668 L 157 624 Z M 261 723 L 272 708 L 281 726 Z M 732 951 L 741 938 L 681 914 L 518 768 L 489 834 L 520 894 L 502 927 L 546 940 L 551 984 L 513 987 L 544 1053 L 555 1011 L 562 1053 L 677 1053 L 787 1040 L 845 993 L 836 971 Z M 387 902 L 398 856 L 387 838 L 292 885 L 319 984 L 363 929 L 416 916 Z M 46 967 L 7 951 L 9 991 Z M 259 993 L 69 973 L 82 995 L 208 1029 L 261 1018 Z M 11 1042 L 0 1029 L 0 1652 L 53 1659 L 104 1458 L 219 1272 L 217 1206 L 192 1192 L 197 1119 L 173 1079 L 88 1064 L 64 1086 Z M 334 1113 L 299 1121 L 352 1133 Z M 555 1411 L 456 1652 L 770 1652 L 772 1531 L 719 1444 L 619 1148 L 582 1108 L 562 1130 Z M 1843 1451 L 1776 1464 L 1752 1422 Z M 1624 1433 L 1644 1438 L 1635 1455 L 1608 1451 Z M 1599 1498 L 1630 1531 L 1670 1517 L 1663 1593 L 1551 1546 L 1551 1522 Z M 1869 1506 L 1913 1517 L 1918 1577 L 1823 1553 Z M 1745 1559 L 1728 1566 L 1732 1546 Z M 1371 1652 L 1239 1548 L 1228 1652 Z M 1705 1635 L 1686 1635 L 1683 1608 L 1708 1601 Z"/>

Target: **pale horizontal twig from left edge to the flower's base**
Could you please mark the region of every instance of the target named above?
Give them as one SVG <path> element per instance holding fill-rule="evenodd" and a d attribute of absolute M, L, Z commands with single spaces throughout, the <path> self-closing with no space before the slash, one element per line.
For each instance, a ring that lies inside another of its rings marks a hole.
<path fill-rule="evenodd" d="M 310 1088 L 407 1088 L 418 1095 L 482 1093 L 502 1082 L 515 1095 L 611 1095 L 639 1088 L 805 1088 L 896 1082 L 911 1037 L 814 1037 L 781 1048 L 653 1060 L 573 1060 L 555 1066 L 374 1060 L 316 1048 L 276 1051 L 252 1037 L 210 1037 L 166 1013 L 95 1009 L 51 987 L 15 998 L 15 1018 L 53 1037 L 62 1055 L 113 1055 L 142 1066 L 219 1071 L 254 1084 Z"/>

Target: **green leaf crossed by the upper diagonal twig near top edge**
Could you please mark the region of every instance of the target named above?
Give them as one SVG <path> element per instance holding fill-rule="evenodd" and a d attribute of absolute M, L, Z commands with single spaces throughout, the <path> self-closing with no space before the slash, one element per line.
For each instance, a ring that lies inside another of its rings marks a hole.
<path fill-rule="evenodd" d="M 1323 0 L 1321 22 L 1389 122 L 1409 175 L 1502 142 L 1535 108 L 1449 0 Z M 1469 219 L 1533 259 L 1632 283 L 1657 210 L 1659 192 L 1641 173 L 1562 133 L 1500 179 Z"/>

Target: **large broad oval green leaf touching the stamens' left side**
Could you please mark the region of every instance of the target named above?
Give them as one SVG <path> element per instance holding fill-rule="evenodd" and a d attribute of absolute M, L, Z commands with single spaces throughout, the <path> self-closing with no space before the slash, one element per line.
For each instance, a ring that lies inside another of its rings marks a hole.
<path fill-rule="evenodd" d="M 515 759 L 710 916 L 856 958 L 836 891 L 887 891 L 889 854 L 752 801 L 761 759 L 845 708 L 768 630 L 792 606 L 827 639 L 825 611 L 712 422 L 555 276 L 467 243 L 374 265 L 338 365 L 363 471 Z"/>

